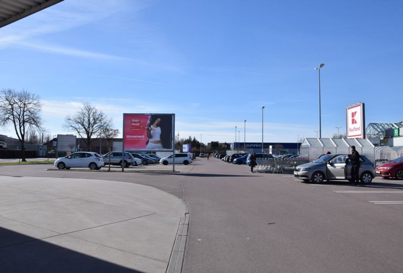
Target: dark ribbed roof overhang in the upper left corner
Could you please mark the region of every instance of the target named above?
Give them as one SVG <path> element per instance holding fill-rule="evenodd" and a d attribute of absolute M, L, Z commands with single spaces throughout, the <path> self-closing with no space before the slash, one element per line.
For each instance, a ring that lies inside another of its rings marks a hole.
<path fill-rule="evenodd" d="M 0 0 L 0 28 L 63 0 Z"/>

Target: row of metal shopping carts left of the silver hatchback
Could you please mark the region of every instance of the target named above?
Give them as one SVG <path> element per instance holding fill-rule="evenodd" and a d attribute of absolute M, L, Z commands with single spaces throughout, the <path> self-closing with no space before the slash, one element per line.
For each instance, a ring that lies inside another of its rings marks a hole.
<path fill-rule="evenodd" d="M 309 159 L 299 160 L 277 160 L 277 159 L 257 159 L 257 165 L 253 172 L 257 173 L 294 173 L 297 166 L 311 162 Z"/>

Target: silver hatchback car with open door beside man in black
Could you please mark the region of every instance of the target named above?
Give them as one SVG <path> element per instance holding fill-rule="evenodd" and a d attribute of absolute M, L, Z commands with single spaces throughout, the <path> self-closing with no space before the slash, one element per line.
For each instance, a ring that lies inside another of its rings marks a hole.
<path fill-rule="evenodd" d="M 321 183 L 323 180 L 346 179 L 351 180 L 351 162 L 346 163 L 347 154 L 324 155 L 312 163 L 297 166 L 294 177 L 304 181 L 312 180 Z M 361 167 L 359 171 L 360 181 L 364 184 L 372 182 L 375 177 L 375 168 L 371 161 L 360 155 Z"/>

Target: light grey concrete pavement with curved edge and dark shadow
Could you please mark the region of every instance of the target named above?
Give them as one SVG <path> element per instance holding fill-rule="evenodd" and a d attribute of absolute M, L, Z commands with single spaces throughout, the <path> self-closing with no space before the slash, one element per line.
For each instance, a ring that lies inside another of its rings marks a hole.
<path fill-rule="evenodd" d="M 180 271 L 185 224 L 185 204 L 150 186 L 0 176 L 2 272 Z"/>

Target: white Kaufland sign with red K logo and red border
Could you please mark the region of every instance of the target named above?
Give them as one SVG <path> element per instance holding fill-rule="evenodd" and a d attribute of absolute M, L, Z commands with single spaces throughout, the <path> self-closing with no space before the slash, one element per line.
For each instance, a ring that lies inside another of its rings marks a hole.
<path fill-rule="evenodd" d="M 346 107 L 347 138 L 365 139 L 365 105 L 362 102 Z"/>

